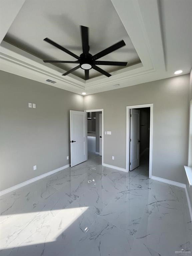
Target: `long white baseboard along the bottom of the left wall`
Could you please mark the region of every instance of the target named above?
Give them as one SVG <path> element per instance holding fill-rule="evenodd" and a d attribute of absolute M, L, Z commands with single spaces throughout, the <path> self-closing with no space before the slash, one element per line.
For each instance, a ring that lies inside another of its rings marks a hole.
<path fill-rule="evenodd" d="M 53 173 L 59 172 L 59 171 L 61 171 L 61 170 L 63 170 L 63 169 L 66 169 L 67 167 L 69 167 L 69 164 L 67 164 L 67 165 L 65 165 L 65 166 L 62 166 L 62 167 L 60 167 L 60 168 L 57 168 L 57 169 L 55 169 L 55 170 L 53 170 L 53 171 L 46 172 L 46 173 L 44 173 L 44 174 L 42 174 L 42 175 L 39 175 L 39 176 L 37 176 L 37 177 L 35 177 L 35 178 L 32 178 L 32 179 L 30 179 L 30 180 L 26 180 L 26 181 L 24 181 L 24 182 L 22 182 L 22 183 L 19 183 L 18 185 L 15 185 L 15 186 L 13 186 L 13 187 L 10 187 L 10 188 L 7 188 L 7 189 L 5 189 L 5 190 L 2 190 L 2 191 L 0 191 L 0 196 L 2 196 L 2 195 L 4 195 L 4 194 L 7 194 L 7 193 L 9 193 L 9 192 L 11 192 L 11 191 L 15 191 L 16 189 L 21 188 L 21 187 L 24 187 L 24 186 L 26 186 L 26 185 L 28 185 L 28 184 L 34 182 L 34 181 L 40 180 L 40 179 L 42 179 L 42 178 L 45 178 L 45 177 L 47 177 L 47 176 L 49 176 L 49 175 L 51 175 L 51 174 L 53 174 Z"/>

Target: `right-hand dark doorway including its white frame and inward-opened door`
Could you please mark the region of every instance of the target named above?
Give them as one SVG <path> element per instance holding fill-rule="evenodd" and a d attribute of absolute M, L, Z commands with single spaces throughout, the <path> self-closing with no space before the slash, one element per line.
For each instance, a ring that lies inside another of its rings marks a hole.
<path fill-rule="evenodd" d="M 152 176 L 153 104 L 127 107 L 126 171 Z"/>

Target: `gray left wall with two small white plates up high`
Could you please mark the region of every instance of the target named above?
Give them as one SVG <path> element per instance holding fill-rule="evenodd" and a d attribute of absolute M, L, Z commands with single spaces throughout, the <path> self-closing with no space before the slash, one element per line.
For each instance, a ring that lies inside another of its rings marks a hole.
<path fill-rule="evenodd" d="M 0 81 L 3 190 L 69 163 L 69 110 L 82 111 L 83 96 L 3 71 Z"/>

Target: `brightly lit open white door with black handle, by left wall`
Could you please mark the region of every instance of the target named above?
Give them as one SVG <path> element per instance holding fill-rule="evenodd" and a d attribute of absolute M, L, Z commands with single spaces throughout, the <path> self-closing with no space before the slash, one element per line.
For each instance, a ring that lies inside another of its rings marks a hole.
<path fill-rule="evenodd" d="M 87 112 L 70 110 L 71 167 L 87 161 Z"/>

